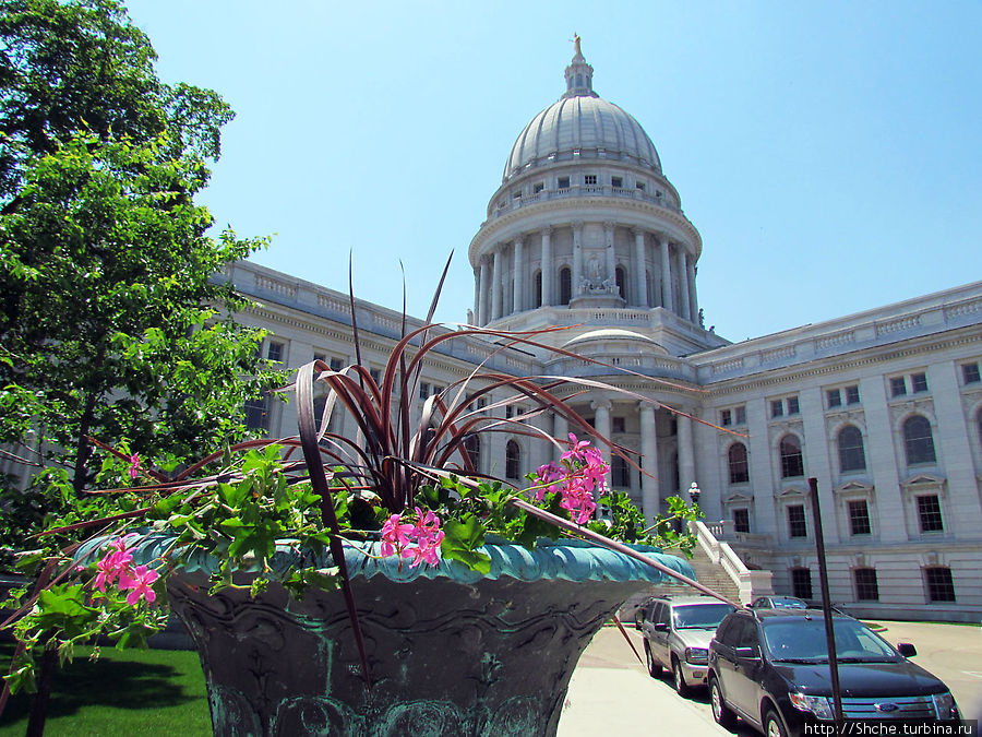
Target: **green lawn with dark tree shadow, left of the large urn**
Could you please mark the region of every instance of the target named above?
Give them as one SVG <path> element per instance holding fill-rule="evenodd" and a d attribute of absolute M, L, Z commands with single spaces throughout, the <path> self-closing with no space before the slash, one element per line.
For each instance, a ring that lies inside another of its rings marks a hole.
<path fill-rule="evenodd" d="M 58 673 L 45 735 L 93 737 L 212 734 L 204 676 L 197 653 L 104 647 L 98 661 L 80 649 Z M 13 645 L 0 644 L 7 673 Z M 0 735 L 23 735 L 31 697 L 11 699 L 0 717 Z"/>

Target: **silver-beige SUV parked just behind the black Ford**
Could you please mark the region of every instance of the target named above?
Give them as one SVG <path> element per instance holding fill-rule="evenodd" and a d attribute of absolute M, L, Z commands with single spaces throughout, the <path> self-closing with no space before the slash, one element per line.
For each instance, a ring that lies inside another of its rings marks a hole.
<path fill-rule="evenodd" d="M 705 686 L 709 640 L 731 611 L 730 604 L 710 596 L 667 595 L 645 602 L 635 626 L 645 635 L 645 659 L 651 677 L 668 668 L 681 697 L 687 697 L 694 686 Z"/>

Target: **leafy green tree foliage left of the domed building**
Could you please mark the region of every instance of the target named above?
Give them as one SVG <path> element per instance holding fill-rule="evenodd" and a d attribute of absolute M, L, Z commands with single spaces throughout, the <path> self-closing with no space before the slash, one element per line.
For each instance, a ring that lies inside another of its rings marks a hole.
<path fill-rule="evenodd" d="M 173 466 L 241 438 L 261 384 L 215 275 L 263 241 L 194 203 L 231 111 L 155 59 L 113 0 L 0 0 L 0 443 L 29 429 L 76 494 L 89 437 Z"/>

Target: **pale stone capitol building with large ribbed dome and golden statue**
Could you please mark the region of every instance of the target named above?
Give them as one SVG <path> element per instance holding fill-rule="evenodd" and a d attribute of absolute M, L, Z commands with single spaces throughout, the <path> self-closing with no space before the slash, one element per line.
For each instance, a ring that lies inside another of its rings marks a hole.
<path fill-rule="evenodd" d="M 424 369 L 416 412 L 482 362 L 640 394 L 654 402 L 590 389 L 571 403 L 637 452 L 647 473 L 614 456 L 610 484 L 647 516 L 697 484 L 700 544 L 742 576 L 742 596 L 773 587 L 819 597 L 815 477 L 834 603 L 866 617 L 978 622 L 982 282 L 731 343 L 703 324 L 699 231 L 644 128 L 595 92 L 592 73 L 577 39 L 562 96 L 502 151 L 501 183 L 468 249 L 469 323 L 567 329 L 537 338 L 541 348 L 448 342 Z M 270 331 L 267 357 L 289 367 L 355 361 L 346 293 L 251 262 L 226 276 L 256 302 L 238 319 Z M 356 317 L 362 362 L 379 370 L 402 314 L 359 301 Z M 516 421 L 530 409 L 489 407 Z M 288 403 L 259 401 L 248 414 L 271 435 L 296 433 Z M 567 432 L 561 420 L 530 421 Z M 331 423 L 354 432 L 344 416 Z M 552 460 L 547 443 L 522 433 L 481 442 L 480 469 L 516 484 Z"/>

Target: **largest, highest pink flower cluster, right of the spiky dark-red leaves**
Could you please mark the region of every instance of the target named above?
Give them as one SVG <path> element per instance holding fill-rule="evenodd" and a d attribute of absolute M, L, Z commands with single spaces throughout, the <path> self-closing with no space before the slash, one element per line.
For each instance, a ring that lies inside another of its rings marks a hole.
<path fill-rule="evenodd" d="M 583 524 L 597 510 L 594 491 L 600 496 L 607 490 L 603 479 L 609 471 L 600 451 L 571 432 L 570 450 L 560 456 L 560 463 L 539 466 L 537 480 L 541 486 L 536 490 L 536 501 L 542 501 L 547 492 L 560 492 L 560 507 L 570 511 L 576 524 Z"/>

